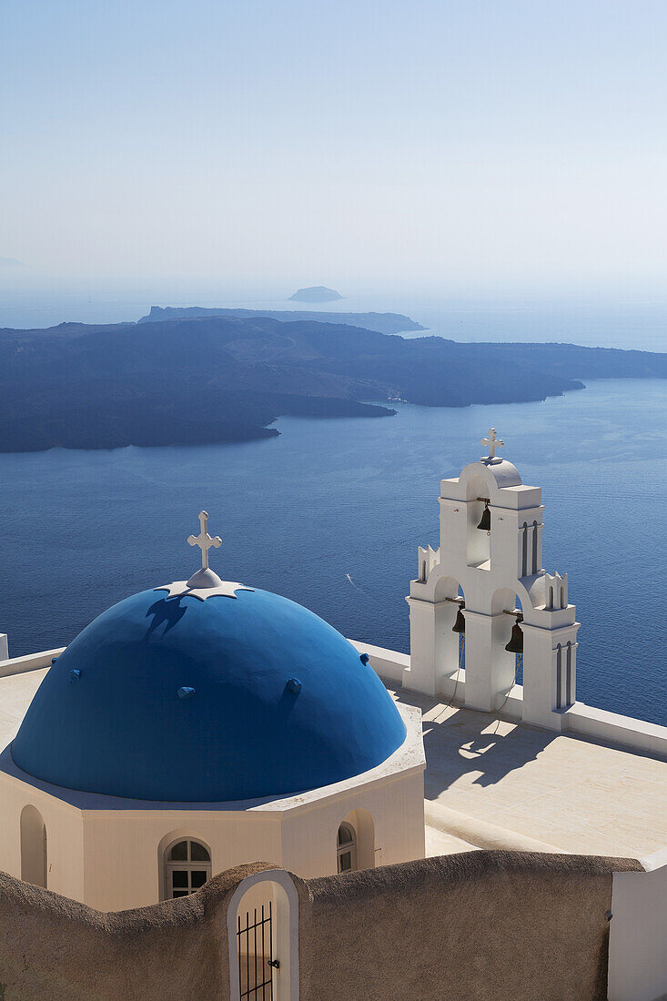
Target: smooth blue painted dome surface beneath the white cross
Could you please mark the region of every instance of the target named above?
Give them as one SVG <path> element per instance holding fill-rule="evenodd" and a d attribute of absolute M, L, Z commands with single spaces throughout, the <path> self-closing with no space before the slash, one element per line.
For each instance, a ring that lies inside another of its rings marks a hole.
<path fill-rule="evenodd" d="M 144 591 L 57 659 L 12 757 L 68 789 L 210 803 L 349 779 L 405 736 L 373 669 L 300 605 L 258 590 L 205 602 Z"/>

